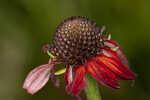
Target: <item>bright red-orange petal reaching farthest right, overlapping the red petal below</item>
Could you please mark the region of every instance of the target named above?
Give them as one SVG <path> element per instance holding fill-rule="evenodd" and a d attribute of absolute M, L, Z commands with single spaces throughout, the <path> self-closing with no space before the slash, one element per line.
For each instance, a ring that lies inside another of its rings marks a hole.
<path fill-rule="evenodd" d="M 135 73 L 115 58 L 99 55 L 97 56 L 97 59 L 104 63 L 116 75 L 118 75 L 120 79 L 133 80 L 136 77 Z"/>

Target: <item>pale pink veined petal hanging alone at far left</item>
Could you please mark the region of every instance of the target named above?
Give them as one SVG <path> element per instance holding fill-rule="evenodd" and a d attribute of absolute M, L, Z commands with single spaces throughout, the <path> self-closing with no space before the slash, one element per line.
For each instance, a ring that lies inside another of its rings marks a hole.
<path fill-rule="evenodd" d="M 44 64 L 33 69 L 26 77 L 23 88 L 30 94 L 38 92 L 49 80 L 53 66 L 54 64 Z"/>

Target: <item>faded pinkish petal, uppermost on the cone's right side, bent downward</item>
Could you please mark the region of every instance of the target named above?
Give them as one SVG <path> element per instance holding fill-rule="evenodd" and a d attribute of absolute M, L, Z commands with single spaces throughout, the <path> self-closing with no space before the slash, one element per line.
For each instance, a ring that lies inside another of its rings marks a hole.
<path fill-rule="evenodd" d="M 109 47 L 109 48 L 117 48 L 115 50 L 115 52 L 120 57 L 122 63 L 129 67 L 129 62 L 128 62 L 125 54 L 123 53 L 122 49 L 120 48 L 120 46 L 119 46 L 119 44 L 117 42 L 115 42 L 113 40 L 106 40 L 104 42 L 104 45 L 107 46 L 107 47 Z"/>

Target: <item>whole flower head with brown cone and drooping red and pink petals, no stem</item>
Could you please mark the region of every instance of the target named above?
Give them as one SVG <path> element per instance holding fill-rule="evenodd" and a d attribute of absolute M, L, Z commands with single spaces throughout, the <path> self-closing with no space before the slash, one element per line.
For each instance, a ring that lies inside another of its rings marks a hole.
<path fill-rule="evenodd" d="M 119 89 L 118 80 L 134 80 L 136 74 L 130 70 L 120 46 L 103 32 L 104 27 L 99 29 L 87 18 L 66 19 L 57 27 L 53 44 L 44 46 L 49 63 L 32 70 L 23 88 L 34 94 L 49 78 L 58 86 L 56 75 L 65 72 L 66 91 L 80 99 L 78 94 L 86 86 L 86 74 L 113 89 Z M 66 68 L 55 72 L 53 67 L 58 63 Z"/>

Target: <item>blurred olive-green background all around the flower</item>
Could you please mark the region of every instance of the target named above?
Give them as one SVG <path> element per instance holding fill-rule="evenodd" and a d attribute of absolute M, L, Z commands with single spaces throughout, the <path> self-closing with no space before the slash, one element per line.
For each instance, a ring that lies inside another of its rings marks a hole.
<path fill-rule="evenodd" d="M 52 42 L 56 26 L 75 15 L 106 25 L 138 74 L 134 87 L 121 81 L 114 91 L 99 84 L 103 100 L 150 100 L 150 0 L 0 0 L 0 100 L 75 100 L 63 76 L 60 88 L 48 82 L 35 95 L 22 89 L 27 73 L 47 63 L 41 48 Z"/>

